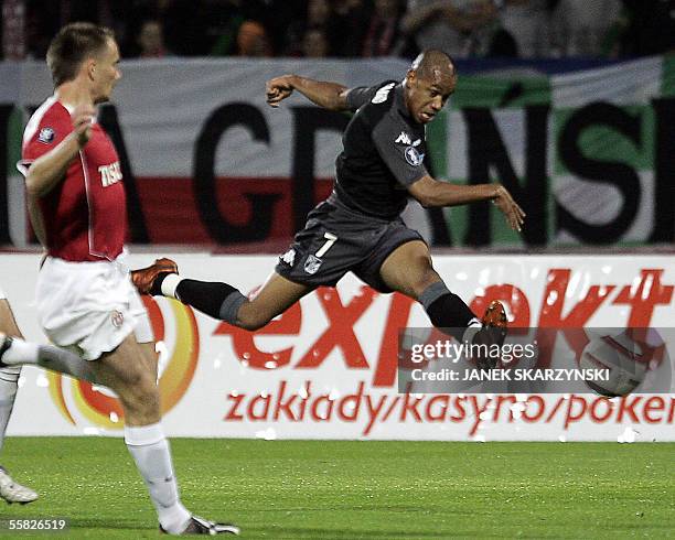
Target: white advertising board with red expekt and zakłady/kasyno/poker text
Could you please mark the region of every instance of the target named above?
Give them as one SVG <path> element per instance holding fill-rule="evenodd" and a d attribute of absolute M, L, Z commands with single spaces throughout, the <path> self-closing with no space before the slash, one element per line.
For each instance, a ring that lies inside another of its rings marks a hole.
<path fill-rule="evenodd" d="M 259 288 L 276 257 L 167 253 L 185 277 Z M 153 256 L 132 255 L 142 267 Z M 36 322 L 36 255 L 2 255 L 0 287 L 26 338 Z M 476 313 L 505 302 L 519 326 L 672 326 L 672 256 L 436 256 L 435 268 Z M 607 399 L 556 395 L 404 395 L 398 332 L 429 326 L 416 302 L 352 276 L 249 333 L 167 299 L 148 299 L 171 436 L 449 441 L 675 441 L 671 393 Z M 667 361 L 675 358 L 666 350 Z M 26 368 L 14 435 L 121 434 L 114 395 Z"/>

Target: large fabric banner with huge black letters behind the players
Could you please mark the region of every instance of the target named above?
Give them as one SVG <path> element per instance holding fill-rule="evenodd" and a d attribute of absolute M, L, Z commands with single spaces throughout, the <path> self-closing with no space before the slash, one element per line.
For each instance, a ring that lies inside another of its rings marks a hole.
<path fill-rule="evenodd" d="M 447 108 L 428 125 L 425 162 L 452 183 L 503 183 L 528 226 L 516 235 L 485 205 L 411 205 L 407 218 L 425 238 L 454 247 L 672 244 L 675 57 L 500 66 L 460 68 Z M 297 73 L 375 85 L 401 80 L 408 63 L 167 58 L 120 68 L 98 121 L 120 156 L 132 239 L 190 246 L 287 240 L 330 193 L 349 116 L 297 93 L 271 108 L 268 79 Z M 43 62 L 0 62 L 0 240 L 20 247 L 31 238 L 14 164 L 28 118 L 52 91 Z"/>

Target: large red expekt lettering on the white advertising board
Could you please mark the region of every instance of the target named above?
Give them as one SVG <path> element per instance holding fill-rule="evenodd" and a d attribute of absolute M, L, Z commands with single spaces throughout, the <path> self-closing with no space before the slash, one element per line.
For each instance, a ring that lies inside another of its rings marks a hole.
<path fill-rule="evenodd" d="M 510 312 L 512 332 L 517 328 L 538 326 L 540 328 L 569 328 L 566 337 L 575 341 L 581 337 L 577 347 L 583 348 L 588 338 L 582 332 L 590 320 L 610 305 L 624 307 L 625 321 L 630 327 L 647 327 L 654 310 L 671 304 L 672 284 L 662 281 L 663 269 L 642 269 L 623 283 L 593 284 L 587 272 L 569 268 L 551 268 L 542 274 L 544 294 L 539 305 L 534 305 L 526 291 L 512 283 L 492 284 L 476 290 L 470 302 L 474 313 L 483 313 L 493 300 L 504 302 Z M 581 285 L 583 285 L 581 288 Z M 452 287 L 452 283 L 450 283 Z M 536 285 L 539 287 L 538 284 Z M 579 289 L 583 294 L 579 295 Z M 527 292 L 532 293 L 532 290 Z M 378 293 L 363 287 L 361 294 L 345 301 L 335 289 L 320 288 L 315 291 L 328 326 L 314 343 L 298 341 L 279 350 L 261 350 L 256 338 L 259 336 L 299 336 L 303 324 L 302 307 L 299 303 L 277 317 L 264 328 L 251 333 L 221 323 L 214 334 L 229 336 L 236 358 L 246 367 L 260 370 L 280 368 L 317 369 L 334 349 L 340 349 L 345 368 L 372 370 L 374 387 L 392 387 L 396 381 L 398 356 L 398 332 L 408 326 L 415 302 L 407 296 L 394 294 L 388 310 L 383 312 L 386 320 L 382 335 L 371 335 L 381 345 L 376 357 L 366 358 L 362 343 L 354 331 L 356 324 L 368 311 Z M 304 324 L 308 324 L 304 321 Z M 309 323 L 311 324 L 311 322 Z M 596 322 L 597 326 L 601 323 Z M 554 336 L 545 333 L 543 337 Z M 543 342 L 544 343 L 544 342 Z M 550 343 L 545 343 L 550 349 Z M 299 358 L 299 359 L 296 359 Z M 540 358 L 545 364 L 546 359 Z"/>

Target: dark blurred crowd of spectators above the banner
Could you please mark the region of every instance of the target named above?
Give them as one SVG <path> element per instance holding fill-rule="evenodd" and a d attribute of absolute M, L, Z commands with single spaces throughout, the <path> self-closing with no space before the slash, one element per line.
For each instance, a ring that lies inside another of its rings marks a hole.
<path fill-rule="evenodd" d="M 2 58 L 43 58 L 63 24 L 125 57 L 631 57 L 675 51 L 675 0 L 3 0 Z"/>

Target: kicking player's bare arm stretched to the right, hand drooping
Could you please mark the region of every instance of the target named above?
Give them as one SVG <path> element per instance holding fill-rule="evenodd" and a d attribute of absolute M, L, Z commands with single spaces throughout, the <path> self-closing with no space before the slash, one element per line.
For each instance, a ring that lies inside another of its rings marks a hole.
<path fill-rule="evenodd" d="M 508 225 L 521 230 L 525 222 L 523 208 L 502 184 L 456 185 L 433 180 L 428 174 L 414 182 L 408 191 L 422 206 L 459 206 L 492 201 L 502 210 Z"/>

